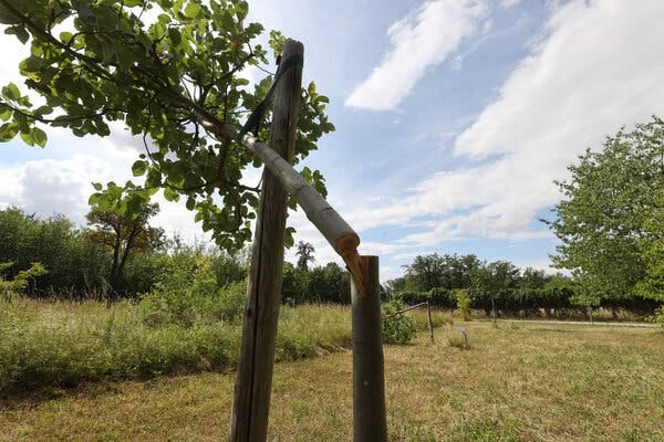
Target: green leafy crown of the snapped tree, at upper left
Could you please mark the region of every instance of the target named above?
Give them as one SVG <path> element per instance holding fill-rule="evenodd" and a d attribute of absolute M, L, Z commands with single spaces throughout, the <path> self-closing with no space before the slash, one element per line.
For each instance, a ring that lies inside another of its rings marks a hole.
<path fill-rule="evenodd" d="M 0 0 L 6 32 L 30 45 L 20 72 L 40 98 L 33 104 L 15 84 L 2 87 L 0 140 L 20 136 L 43 147 L 44 125 L 107 136 L 120 122 L 143 136 L 145 152 L 132 170 L 145 182 L 103 192 L 97 183 L 91 203 L 131 212 L 120 202 L 127 192 L 148 198 L 163 189 L 167 200 L 184 198 L 220 246 L 240 249 L 251 240 L 259 203 L 259 189 L 241 179 L 259 161 L 225 134 L 271 83 L 267 77 L 248 91 L 239 76 L 268 63 L 268 51 L 255 43 L 263 28 L 247 23 L 247 14 L 241 0 Z M 269 42 L 279 54 L 284 39 L 273 31 Z M 334 129 L 326 103 L 313 83 L 302 90 L 295 162 Z M 253 130 L 266 139 L 264 128 Z M 309 177 L 323 186 L 320 172 Z"/>

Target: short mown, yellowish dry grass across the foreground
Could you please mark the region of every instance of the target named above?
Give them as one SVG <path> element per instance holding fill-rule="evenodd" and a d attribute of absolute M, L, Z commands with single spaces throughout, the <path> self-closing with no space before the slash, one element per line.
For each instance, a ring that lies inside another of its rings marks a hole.
<path fill-rule="evenodd" d="M 559 324 L 457 323 L 470 349 L 385 348 L 394 441 L 664 441 L 664 333 Z M 277 365 L 270 441 L 352 439 L 351 354 Z M 95 382 L 14 397 L 0 441 L 218 441 L 234 375 Z"/>

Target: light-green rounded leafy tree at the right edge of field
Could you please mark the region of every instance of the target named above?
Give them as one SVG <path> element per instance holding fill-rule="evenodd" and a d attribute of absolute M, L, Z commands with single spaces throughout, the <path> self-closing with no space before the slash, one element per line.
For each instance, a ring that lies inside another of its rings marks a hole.
<path fill-rule="evenodd" d="M 653 117 L 606 138 L 601 151 L 579 157 L 559 181 L 564 199 L 544 221 L 560 239 L 553 263 L 579 278 L 583 298 L 626 298 L 646 275 L 644 249 L 661 238 L 649 223 L 664 189 L 664 122 Z"/>

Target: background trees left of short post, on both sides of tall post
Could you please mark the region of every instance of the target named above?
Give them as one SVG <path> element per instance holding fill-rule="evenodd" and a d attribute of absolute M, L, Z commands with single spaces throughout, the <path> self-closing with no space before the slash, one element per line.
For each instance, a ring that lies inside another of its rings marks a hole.
<path fill-rule="evenodd" d="M 246 278 L 246 251 L 231 254 L 186 244 L 177 235 L 167 239 L 162 229 L 148 224 L 157 206 L 146 204 L 138 212 L 139 217 L 131 218 L 93 206 L 87 225 L 80 228 L 62 214 L 40 219 L 14 207 L 0 210 L 0 276 L 13 281 L 40 263 L 44 272 L 31 274 L 21 292 L 30 297 L 75 299 L 137 297 L 173 287 L 173 274 L 179 275 L 180 285 L 190 280 L 210 291 Z M 313 252 L 311 244 L 300 242 L 297 264 L 286 263 L 283 299 L 292 304 L 350 303 L 345 270 L 335 263 L 312 267 Z M 203 285 L 196 282 L 200 274 L 208 275 Z M 200 286 L 195 292 L 200 292 Z"/>

